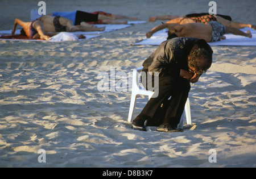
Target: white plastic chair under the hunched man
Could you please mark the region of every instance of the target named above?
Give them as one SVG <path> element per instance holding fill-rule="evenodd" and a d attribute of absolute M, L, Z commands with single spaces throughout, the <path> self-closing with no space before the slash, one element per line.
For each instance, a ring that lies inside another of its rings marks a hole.
<path fill-rule="evenodd" d="M 133 85 L 132 85 L 132 91 L 131 91 L 131 103 L 130 103 L 130 109 L 129 109 L 129 115 L 128 115 L 128 122 L 131 122 L 131 118 L 133 118 L 137 95 L 138 94 L 148 95 L 148 100 L 149 100 L 152 97 L 152 95 L 154 94 L 153 91 L 148 91 L 141 85 L 142 69 L 143 69 L 143 66 L 133 70 Z M 186 114 L 187 124 L 192 124 L 189 98 L 187 99 L 187 102 L 185 104 L 184 111 Z M 183 128 L 184 111 L 181 116 L 180 123 L 177 125 L 177 128 Z"/>

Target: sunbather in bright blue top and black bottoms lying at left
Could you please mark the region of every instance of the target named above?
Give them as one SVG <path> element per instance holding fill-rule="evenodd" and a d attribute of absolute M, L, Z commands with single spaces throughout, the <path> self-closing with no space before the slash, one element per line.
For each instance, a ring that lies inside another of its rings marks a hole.
<path fill-rule="evenodd" d="M 96 11 L 94 13 L 87 13 L 85 11 L 71 11 L 71 12 L 54 12 L 53 16 L 63 16 L 73 21 L 73 25 L 82 25 L 83 23 L 90 24 L 127 24 L 127 20 L 118 21 L 116 19 L 137 20 L 137 17 L 129 17 L 119 14 L 110 14 L 103 11 Z"/>

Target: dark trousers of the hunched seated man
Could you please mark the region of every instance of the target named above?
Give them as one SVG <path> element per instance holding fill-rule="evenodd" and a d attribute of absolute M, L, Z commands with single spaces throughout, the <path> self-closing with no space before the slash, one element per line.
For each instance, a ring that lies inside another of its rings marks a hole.
<path fill-rule="evenodd" d="M 162 76 L 155 88 L 158 88 L 155 89 L 158 90 L 158 97 L 151 98 L 141 113 L 151 120 L 177 127 L 191 88 L 189 81 L 181 77 Z"/>

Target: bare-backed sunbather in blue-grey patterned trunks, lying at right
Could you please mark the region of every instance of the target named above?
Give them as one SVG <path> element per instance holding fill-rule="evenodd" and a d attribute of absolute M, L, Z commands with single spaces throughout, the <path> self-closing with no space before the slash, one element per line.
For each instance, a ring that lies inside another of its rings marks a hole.
<path fill-rule="evenodd" d="M 207 24 L 204 23 L 187 23 L 187 24 L 177 24 L 177 23 L 165 23 L 160 26 L 156 26 L 150 32 L 146 33 L 146 37 L 150 38 L 155 32 L 160 31 L 164 28 L 168 28 L 168 38 L 175 37 L 191 37 L 204 39 L 207 42 L 220 41 L 225 39 L 224 34 L 232 33 L 234 35 L 241 35 L 251 38 L 251 32 L 242 32 L 238 28 L 225 27 L 220 22 L 212 21 Z"/>

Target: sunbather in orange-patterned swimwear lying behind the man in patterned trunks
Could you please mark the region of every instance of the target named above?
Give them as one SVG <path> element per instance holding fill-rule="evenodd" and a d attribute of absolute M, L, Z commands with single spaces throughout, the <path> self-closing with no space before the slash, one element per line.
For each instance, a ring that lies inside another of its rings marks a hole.
<path fill-rule="evenodd" d="M 149 22 L 155 22 L 155 20 L 169 20 L 166 23 L 178 23 L 178 24 L 186 24 L 186 23 L 205 23 L 206 24 L 210 21 L 217 21 L 222 23 L 226 27 L 234 27 L 234 28 L 250 27 L 256 30 L 256 26 L 253 24 L 233 22 L 230 16 L 209 15 L 208 13 L 188 14 L 185 16 L 160 15 L 160 16 L 152 16 L 148 19 Z"/>

